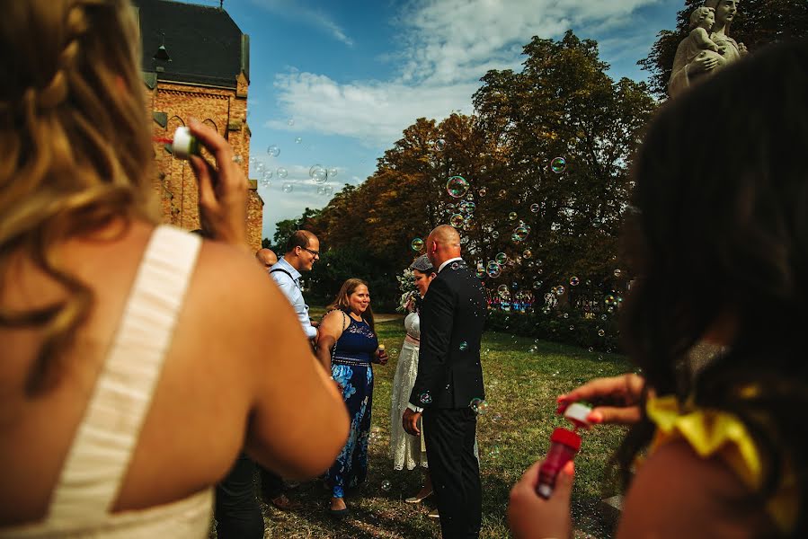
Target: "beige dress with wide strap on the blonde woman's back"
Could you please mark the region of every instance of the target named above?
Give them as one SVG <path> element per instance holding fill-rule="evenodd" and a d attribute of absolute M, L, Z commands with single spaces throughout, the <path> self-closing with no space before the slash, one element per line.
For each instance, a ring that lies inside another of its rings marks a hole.
<path fill-rule="evenodd" d="M 199 250 L 198 236 L 170 226 L 155 229 L 47 516 L 0 528 L 0 538 L 208 536 L 212 488 L 153 508 L 111 513 Z"/>

